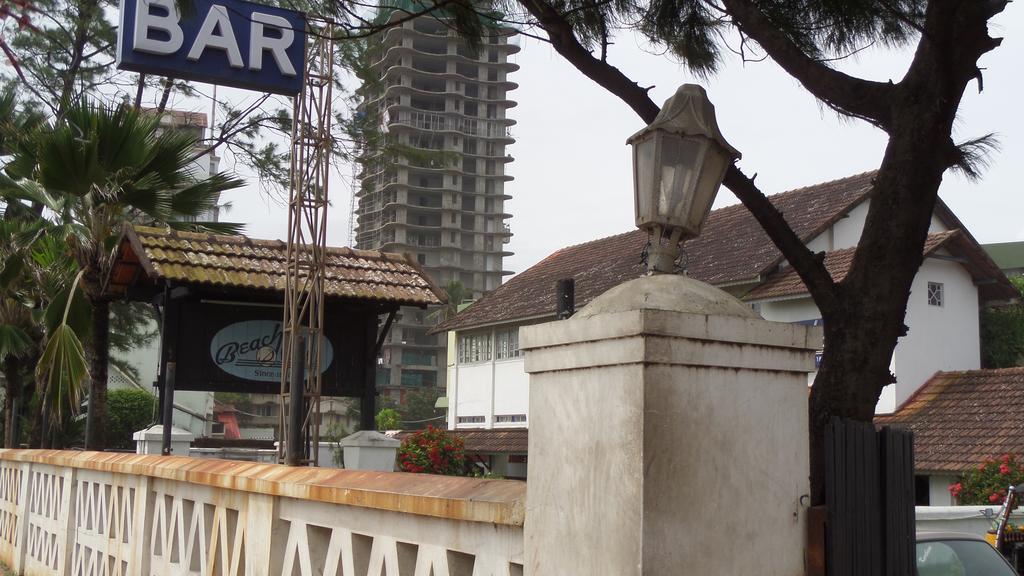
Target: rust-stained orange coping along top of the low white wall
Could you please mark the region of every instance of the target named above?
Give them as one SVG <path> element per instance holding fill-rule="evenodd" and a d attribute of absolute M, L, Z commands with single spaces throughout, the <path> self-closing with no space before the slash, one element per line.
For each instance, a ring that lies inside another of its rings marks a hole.
<path fill-rule="evenodd" d="M 512 480 L 70 450 L 0 449 L 0 460 L 145 476 L 454 521 L 521 527 L 525 520 L 526 484 Z"/>

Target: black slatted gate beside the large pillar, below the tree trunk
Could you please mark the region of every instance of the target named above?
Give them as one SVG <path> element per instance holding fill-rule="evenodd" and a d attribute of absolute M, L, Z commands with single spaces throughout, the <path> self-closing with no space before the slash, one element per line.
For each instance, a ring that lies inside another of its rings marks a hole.
<path fill-rule="evenodd" d="M 828 576 L 914 574 L 912 433 L 833 420 L 825 498 Z"/>

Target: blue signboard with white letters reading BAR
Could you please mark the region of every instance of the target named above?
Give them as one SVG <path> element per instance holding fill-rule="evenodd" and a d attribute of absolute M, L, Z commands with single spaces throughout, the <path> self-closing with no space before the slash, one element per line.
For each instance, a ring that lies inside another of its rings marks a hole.
<path fill-rule="evenodd" d="M 305 22 L 302 12 L 241 0 L 121 0 L 118 68 L 294 95 Z"/>

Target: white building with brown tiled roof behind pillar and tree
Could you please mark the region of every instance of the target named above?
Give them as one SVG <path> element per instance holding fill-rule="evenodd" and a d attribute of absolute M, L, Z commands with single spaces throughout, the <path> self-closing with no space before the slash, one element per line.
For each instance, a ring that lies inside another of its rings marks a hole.
<path fill-rule="evenodd" d="M 834 278 L 845 276 L 850 263 L 872 176 L 770 197 L 804 242 L 826 253 Z M 1006 276 L 941 201 L 931 232 L 907 305 L 909 332 L 893 357 L 897 382 L 883 392 L 880 413 L 894 411 L 936 372 L 980 368 L 979 307 L 1015 296 Z M 580 307 L 642 275 L 646 242 L 646 233 L 634 231 L 563 248 L 440 325 L 458 342 L 449 355 L 449 427 L 528 425 L 518 328 L 554 319 L 558 280 L 574 279 Z M 820 323 L 806 288 L 743 206 L 712 212 L 701 236 L 684 248 L 689 276 L 749 301 L 766 320 Z"/>

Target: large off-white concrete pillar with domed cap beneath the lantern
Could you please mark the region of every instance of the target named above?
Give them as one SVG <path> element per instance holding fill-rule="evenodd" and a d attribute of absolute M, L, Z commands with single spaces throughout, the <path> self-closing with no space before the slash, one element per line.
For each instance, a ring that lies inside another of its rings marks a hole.
<path fill-rule="evenodd" d="M 820 342 L 667 275 L 521 329 L 526 576 L 803 574 Z"/>

